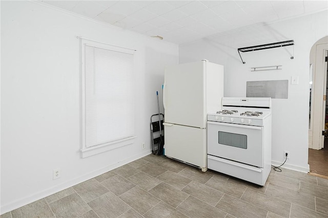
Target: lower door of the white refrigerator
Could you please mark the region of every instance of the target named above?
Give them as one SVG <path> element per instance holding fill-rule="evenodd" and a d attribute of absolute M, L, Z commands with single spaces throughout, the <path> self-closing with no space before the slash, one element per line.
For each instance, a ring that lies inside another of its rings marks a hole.
<path fill-rule="evenodd" d="M 207 169 L 206 129 L 164 123 L 165 155 Z"/>

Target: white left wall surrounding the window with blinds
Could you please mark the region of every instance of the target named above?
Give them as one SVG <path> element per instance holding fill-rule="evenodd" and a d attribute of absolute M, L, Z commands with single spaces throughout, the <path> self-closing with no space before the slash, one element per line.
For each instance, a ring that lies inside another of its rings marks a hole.
<path fill-rule="evenodd" d="M 150 154 L 156 91 L 178 46 L 38 3 L 1 4 L 0 214 Z M 76 36 L 137 50 L 135 143 L 84 159 Z M 61 178 L 52 180 L 57 167 Z"/>

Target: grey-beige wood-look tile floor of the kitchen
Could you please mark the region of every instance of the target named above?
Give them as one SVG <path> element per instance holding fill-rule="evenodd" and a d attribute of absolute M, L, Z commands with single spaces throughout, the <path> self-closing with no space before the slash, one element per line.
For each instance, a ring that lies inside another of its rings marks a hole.
<path fill-rule="evenodd" d="M 328 180 L 272 170 L 260 187 L 148 155 L 7 217 L 328 217 Z"/>

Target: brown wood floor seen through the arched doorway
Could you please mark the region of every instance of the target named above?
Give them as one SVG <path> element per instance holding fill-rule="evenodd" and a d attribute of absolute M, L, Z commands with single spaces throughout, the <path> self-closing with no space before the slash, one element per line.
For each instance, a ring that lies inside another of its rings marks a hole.
<path fill-rule="evenodd" d="M 325 141 L 328 141 L 325 139 Z M 328 177 L 328 148 L 326 145 L 321 150 L 309 148 L 310 172 Z"/>

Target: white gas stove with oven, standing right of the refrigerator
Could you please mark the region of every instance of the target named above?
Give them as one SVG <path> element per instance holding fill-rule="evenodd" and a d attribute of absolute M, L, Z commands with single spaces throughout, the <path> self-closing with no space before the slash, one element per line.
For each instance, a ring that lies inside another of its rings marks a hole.
<path fill-rule="evenodd" d="M 271 98 L 222 98 L 208 114 L 208 168 L 264 186 L 271 171 Z"/>

